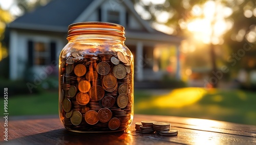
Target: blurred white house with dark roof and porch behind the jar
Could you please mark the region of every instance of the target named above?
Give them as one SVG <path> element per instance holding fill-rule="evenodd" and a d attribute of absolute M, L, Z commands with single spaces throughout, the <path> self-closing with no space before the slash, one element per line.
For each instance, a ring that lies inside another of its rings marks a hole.
<path fill-rule="evenodd" d="M 39 74 L 49 65 L 56 66 L 51 73 L 57 74 L 56 62 L 67 44 L 68 26 L 81 21 L 108 21 L 125 27 L 125 45 L 135 58 L 135 81 L 160 80 L 164 74 L 180 78 L 181 39 L 154 30 L 131 1 L 53 0 L 9 24 L 10 79 L 24 78 L 28 70 Z"/>

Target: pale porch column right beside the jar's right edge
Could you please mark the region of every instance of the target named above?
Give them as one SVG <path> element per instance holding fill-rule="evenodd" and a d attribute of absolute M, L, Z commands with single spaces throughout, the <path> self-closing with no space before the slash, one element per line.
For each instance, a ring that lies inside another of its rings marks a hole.
<path fill-rule="evenodd" d="M 136 77 L 137 81 L 143 81 L 143 43 L 141 41 L 138 41 L 136 44 L 134 76 Z"/>

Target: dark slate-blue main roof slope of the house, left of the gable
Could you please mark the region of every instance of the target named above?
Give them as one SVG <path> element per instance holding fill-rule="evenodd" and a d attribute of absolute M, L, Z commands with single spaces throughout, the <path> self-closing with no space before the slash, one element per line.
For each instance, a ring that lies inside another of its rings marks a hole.
<path fill-rule="evenodd" d="M 93 0 L 53 0 L 18 17 L 10 28 L 67 32 L 68 26 Z"/>

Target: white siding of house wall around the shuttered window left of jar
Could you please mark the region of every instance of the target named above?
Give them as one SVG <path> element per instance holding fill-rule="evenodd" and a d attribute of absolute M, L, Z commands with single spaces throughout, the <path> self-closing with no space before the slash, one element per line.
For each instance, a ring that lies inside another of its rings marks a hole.
<path fill-rule="evenodd" d="M 62 48 L 66 45 L 64 37 L 43 35 L 38 33 L 18 33 L 11 31 L 10 33 L 10 79 L 22 79 L 24 78 L 24 71 L 28 61 L 28 40 L 41 41 L 50 43 L 56 42 L 56 60 Z M 43 66 L 34 66 L 33 73 L 39 74 L 44 71 Z M 56 66 L 57 68 L 57 66 Z"/>

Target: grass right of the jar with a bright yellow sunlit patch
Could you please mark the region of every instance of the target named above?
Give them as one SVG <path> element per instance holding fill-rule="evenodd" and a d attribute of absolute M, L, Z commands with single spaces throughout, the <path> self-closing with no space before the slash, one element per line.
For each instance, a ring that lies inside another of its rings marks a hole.
<path fill-rule="evenodd" d="M 140 95 L 135 97 L 135 113 L 216 119 L 256 125 L 256 92 L 181 88 L 161 95 L 152 95 L 146 91 L 137 93 Z"/>

